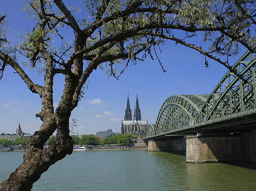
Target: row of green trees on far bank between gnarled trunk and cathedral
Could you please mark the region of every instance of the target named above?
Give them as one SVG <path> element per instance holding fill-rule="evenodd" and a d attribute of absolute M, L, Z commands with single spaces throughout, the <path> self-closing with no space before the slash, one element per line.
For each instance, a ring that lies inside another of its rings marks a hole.
<path fill-rule="evenodd" d="M 55 136 L 52 136 L 48 140 L 48 145 L 51 145 L 55 141 Z M 103 141 L 93 134 L 72 136 L 74 145 L 129 145 L 131 143 L 131 135 L 114 135 L 113 137 L 105 138 Z"/>

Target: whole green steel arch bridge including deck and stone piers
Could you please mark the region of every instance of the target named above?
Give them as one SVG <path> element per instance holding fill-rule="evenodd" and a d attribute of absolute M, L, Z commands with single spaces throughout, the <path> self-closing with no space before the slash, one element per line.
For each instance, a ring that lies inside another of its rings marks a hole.
<path fill-rule="evenodd" d="M 156 150 L 161 150 L 160 145 L 164 145 L 163 142 L 174 145 L 170 142 L 175 142 L 175 139 L 186 140 L 187 162 L 219 162 L 245 158 L 256 160 L 255 65 L 256 54 L 246 52 L 234 63 L 211 94 L 168 97 L 160 108 L 156 123 L 148 125 L 143 141 L 151 143 L 151 147 L 153 142 Z M 208 144 L 209 141 L 212 143 Z M 194 160 L 193 156 L 188 156 L 188 152 L 194 152 L 193 145 L 198 146 L 200 142 L 202 146 L 199 146 L 199 150 L 207 148 L 210 155 L 207 152 L 207 158 L 199 159 L 202 156 L 197 156 Z M 224 142 L 224 145 L 220 145 L 220 142 Z M 185 143 L 178 141 L 177 144 Z M 224 157 L 216 157 L 213 150 L 216 153 L 220 151 L 214 148 L 214 144 L 222 148 L 229 147 L 230 150 L 224 152 L 229 152 L 230 156 L 225 154 Z M 163 150 L 166 149 L 167 146 L 164 146 Z M 237 156 L 237 152 L 249 154 Z"/>

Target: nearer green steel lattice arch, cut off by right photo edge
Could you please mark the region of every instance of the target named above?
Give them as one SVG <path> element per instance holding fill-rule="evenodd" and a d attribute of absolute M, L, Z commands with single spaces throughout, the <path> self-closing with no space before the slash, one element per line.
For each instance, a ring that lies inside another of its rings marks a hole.
<path fill-rule="evenodd" d="M 246 52 L 232 67 L 240 77 L 229 71 L 221 79 L 201 109 L 207 116 L 205 120 L 255 107 L 255 58 Z"/>

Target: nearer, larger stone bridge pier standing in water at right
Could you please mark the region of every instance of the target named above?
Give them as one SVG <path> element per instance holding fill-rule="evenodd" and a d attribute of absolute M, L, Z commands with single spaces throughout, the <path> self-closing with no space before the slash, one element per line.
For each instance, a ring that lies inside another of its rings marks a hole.
<path fill-rule="evenodd" d="M 187 163 L 256 162 L 256 133 L 186 137 Z"/>

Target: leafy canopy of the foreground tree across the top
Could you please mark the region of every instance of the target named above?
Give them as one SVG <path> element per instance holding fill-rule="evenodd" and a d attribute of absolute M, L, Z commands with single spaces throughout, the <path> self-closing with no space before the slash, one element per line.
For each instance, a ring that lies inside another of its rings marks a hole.
<path fill-rule="evenodd" d="M 27 64 L 37 66 L 42 73 L 46 71 L 48 54 L 54 67 L 66 72 L 72 64 L 65 62 L 66 58 L 82 56 L 86 64 L 97 61 L 97 66 L 102 67 L 105 62 L 107 73 L 116 76 L 118 63 L 123 65 L 127 60 L 125 69 L 130 61 L 137 63 L 147 54 L 153 58 L 155 46 L 166 40 L 193 48 L 218 62 L 220 59 L 212 53 L 229 57 L 238 54 L 241 45 L 255 52 L 255 1 L 86 0 L 83 6 L 89 18 L 77 19 L 71 13 L 76 16 L 83 10 L 69 7 L 72 12 L 67 12 L 63 5 L 60 1 L 35 0 L 24 8 L 36 24 L 20 36 L 16 50 L 28 58 Z M 5 23 L 1 25 L 0 37 L 6 39 Z M 84 36 L 81 45 L 65 41 L 64 32 L 69 27 Z M 201 42 L 199 46 L 189 43 L 189 38 L 200 32 L 204 33 L 208 52 L 202 49 Z M 228 60 L 220 63 L 228 66 Z"/>

